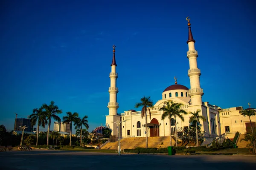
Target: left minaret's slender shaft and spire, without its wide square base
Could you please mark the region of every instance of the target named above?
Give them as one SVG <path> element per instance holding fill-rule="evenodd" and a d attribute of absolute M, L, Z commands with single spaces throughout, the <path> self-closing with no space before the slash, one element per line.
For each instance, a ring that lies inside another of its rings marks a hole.
<path fill-rule="evenodd" d="M 116 45 L 113 45 L 113 59 L 111 64 L 111 73 L 109 74 L 110 77 L 110 88 L 108 89 L 109 92 L 109 102 L 108 102 L 108 109 L 109 109 L 109 115 L 117 115 L 117 108 L 118 102 L 117 100 L 117 93 L 118 88 L 116 87 L 116 79 L 117 79 L 117 73 L 116 73 L 116 57 L 115 57 L 115 50 Z"/>

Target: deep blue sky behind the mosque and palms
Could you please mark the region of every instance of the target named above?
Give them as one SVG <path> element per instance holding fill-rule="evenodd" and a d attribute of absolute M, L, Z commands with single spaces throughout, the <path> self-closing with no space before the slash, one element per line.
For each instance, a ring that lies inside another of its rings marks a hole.
<path fill-rule="evenodd" d="M 175 76 L 190 88 L 187 16 L 203 101 L 256 108 L 253 1 L 145 2 L 2 0 L 0 124 L 11 130 L 14 112 L 26 117 L 53 100 L 61 119 L 71 111 L 88 115 L 90 131 L 105 125 L 113 44 L 118 113 L 134 109 L 144 95 L 157 102 Z"/>

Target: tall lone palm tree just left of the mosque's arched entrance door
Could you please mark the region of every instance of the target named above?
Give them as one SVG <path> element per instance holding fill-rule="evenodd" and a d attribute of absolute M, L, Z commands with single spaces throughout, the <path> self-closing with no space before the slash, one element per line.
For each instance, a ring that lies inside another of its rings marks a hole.
<path fill-rule="evenodd" d="M 136 103 L 134 107 L 139 108 L 139 107 L 143 106 L 143 108 L 141 110 L 141 119 L 143 119 L 143 117 L 145 117 L 146 147 L 148 148 L 147 109 L 149 111 L 149 119 L 151 119 L 151 112 L 148 107 L 154 107 L 154 106 L 153 106 L 153 101 L 150 99 L 150 96 L 149 97 L 143 96 L 143 98 L 141 98 L 140 101 L 141 102 Z"/>

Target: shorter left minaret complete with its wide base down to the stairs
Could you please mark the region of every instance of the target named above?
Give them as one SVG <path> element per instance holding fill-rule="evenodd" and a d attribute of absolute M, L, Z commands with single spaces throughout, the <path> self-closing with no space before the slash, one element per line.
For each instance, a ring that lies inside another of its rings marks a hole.
<path fill-rule="evenodd" d="M 113 59 L 111 64 L 111 73 L 109 74 L 110 77 L 110 87 L 108 89 L 109 92 L 109 102 L 108 102 L 108 110 L 109 114 L 106 116 L 106 125 L 112 130 L 111 134 L 117 136 L 117 127 L 113 122 L 120 122 L 120 117 L 117 115 L 117 108 L 119 108 L 117 102 L 117 93 L 118 88 L 116 87 L 116 57 L 115 57 L 115 50 L 116 45 L 113 45 Z"/>

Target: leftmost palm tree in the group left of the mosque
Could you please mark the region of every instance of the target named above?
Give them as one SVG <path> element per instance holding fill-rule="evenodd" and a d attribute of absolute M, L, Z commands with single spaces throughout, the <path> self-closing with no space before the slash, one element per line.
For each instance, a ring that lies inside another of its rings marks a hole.
<path fill-rule="evenodd" d="M 37 131 L 36 131 L 36 146 L 38 145 L 38 134 L 39 134 L 39 126 L 45 127 L 47 124 L 46 116 L 43 112 L 43 108 L 34 108 L 33 113 L 29 116 L 31 126 L 33 127 L 36 122 L 38 123 Z"/>

